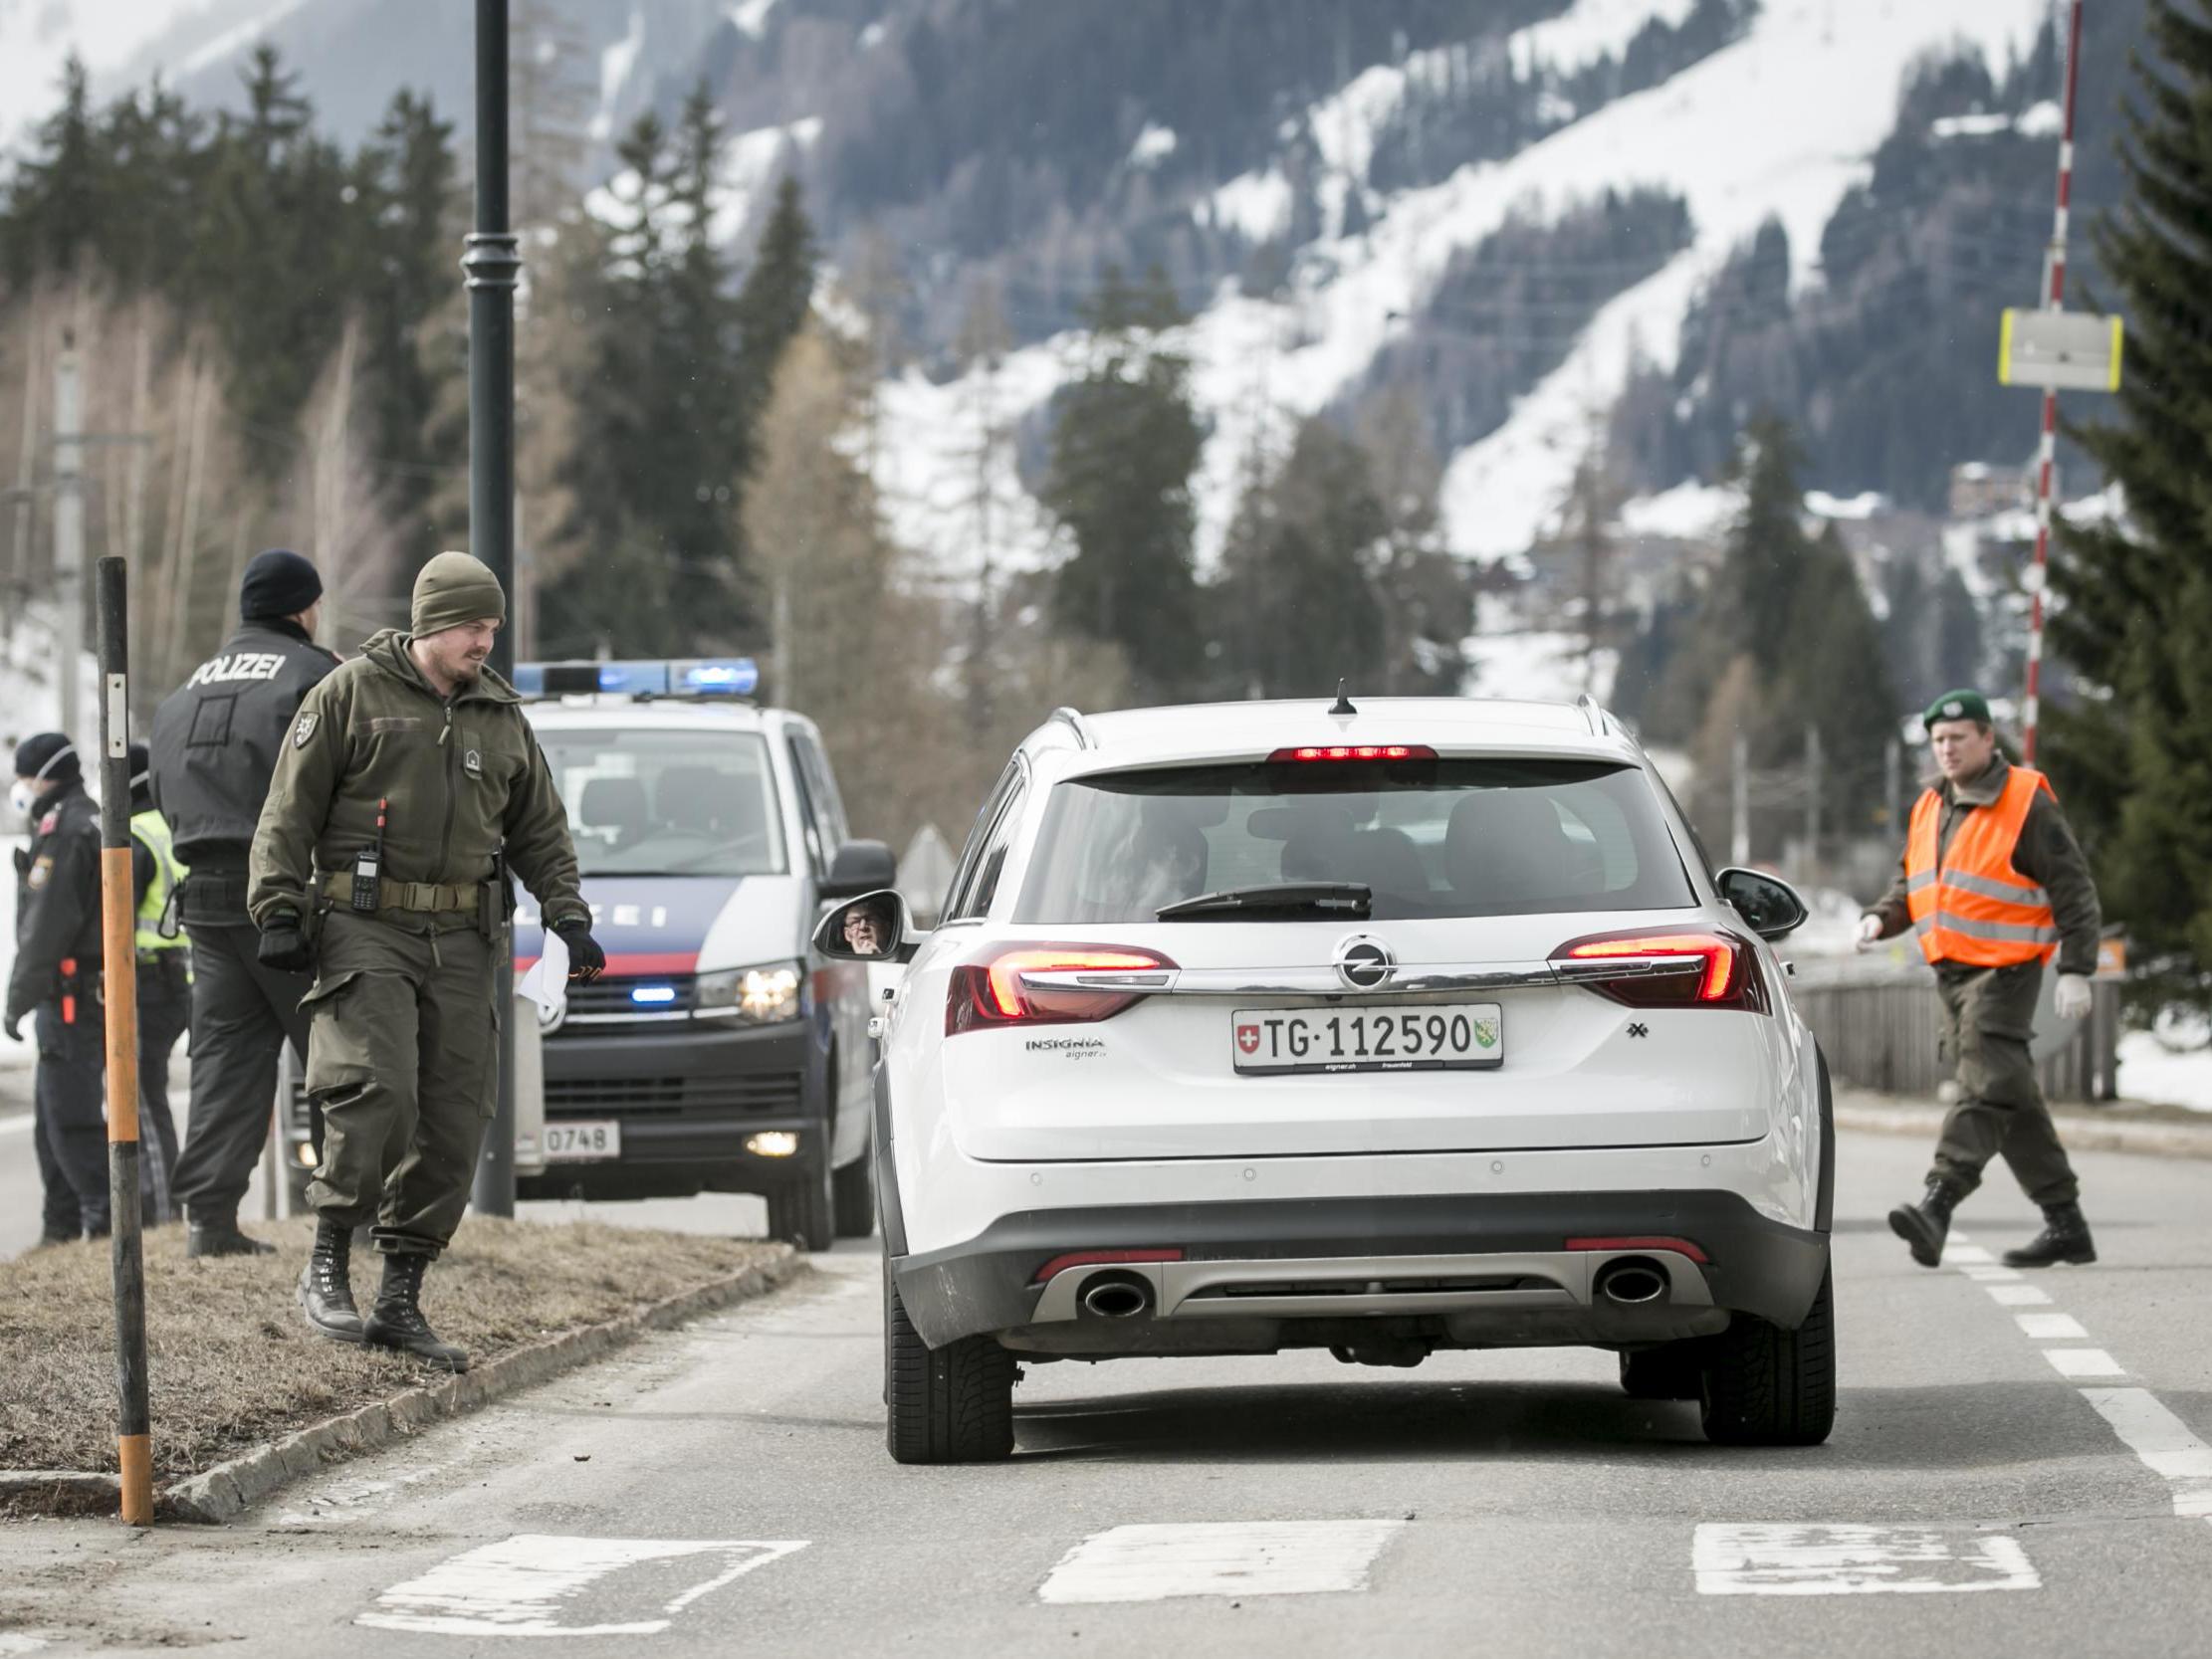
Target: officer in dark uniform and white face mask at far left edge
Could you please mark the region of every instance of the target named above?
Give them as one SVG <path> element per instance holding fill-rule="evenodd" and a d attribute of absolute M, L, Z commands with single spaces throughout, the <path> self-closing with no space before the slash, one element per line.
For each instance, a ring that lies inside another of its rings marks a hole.
<path fill-rule="evenodd" d="M 60 732 L 15 750 L 15 807 L 31 847 L 15 854 L 15 969 L 0 1029 L 38 1033 L 33 1139 L 46 1188 L 40 1243 L 108 1230 L 108 1126 L 100 1108 L 106 1033 L 100 1009 L 100 807 L 77 750 Z"/>

